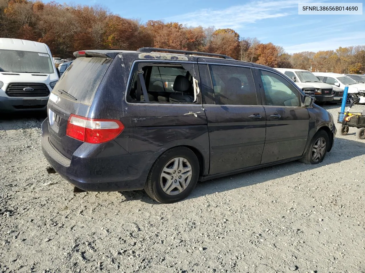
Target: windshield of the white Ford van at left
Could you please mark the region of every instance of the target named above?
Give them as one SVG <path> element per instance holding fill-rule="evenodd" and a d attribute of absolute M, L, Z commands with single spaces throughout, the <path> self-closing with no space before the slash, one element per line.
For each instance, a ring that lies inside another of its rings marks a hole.
<path fill-rule="evenodd" d="M 0 71 L 52 74 L 53 63 L 46 53 L 0 49 Z"/>

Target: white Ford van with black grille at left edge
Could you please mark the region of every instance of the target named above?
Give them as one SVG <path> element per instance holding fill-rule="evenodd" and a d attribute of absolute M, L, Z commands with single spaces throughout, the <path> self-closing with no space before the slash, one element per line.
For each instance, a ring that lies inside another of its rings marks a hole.
<path fill-rule="evenodd" d="M 58 81 L 46 44 L 0 38 L 0 111 L 46 110 Z"/>

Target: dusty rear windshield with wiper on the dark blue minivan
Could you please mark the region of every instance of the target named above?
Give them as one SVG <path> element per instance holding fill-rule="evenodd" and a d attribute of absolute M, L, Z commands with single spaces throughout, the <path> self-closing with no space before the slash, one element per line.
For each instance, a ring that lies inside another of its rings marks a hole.
<path fill-rule="evenodd" d="M 62 74 L 53 92 L 64 90 L 77 102 L 90 105 L 111 62 L 112 59 L 101 57 L 77 58 Z"/>

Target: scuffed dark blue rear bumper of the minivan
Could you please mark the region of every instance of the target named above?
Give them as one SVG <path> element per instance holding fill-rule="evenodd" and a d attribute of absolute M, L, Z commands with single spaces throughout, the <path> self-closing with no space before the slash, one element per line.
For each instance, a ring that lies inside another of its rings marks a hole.
<path fill-rule="evenodd" d="M 158 154 L 128 154 L 116 142 L 83 143 L 64 157 L 49 141 L 48 118 L 42 123 L 42 151 L 49 164 L 74 186 L 87 191 L 127 191 L 144 188 Z"/>

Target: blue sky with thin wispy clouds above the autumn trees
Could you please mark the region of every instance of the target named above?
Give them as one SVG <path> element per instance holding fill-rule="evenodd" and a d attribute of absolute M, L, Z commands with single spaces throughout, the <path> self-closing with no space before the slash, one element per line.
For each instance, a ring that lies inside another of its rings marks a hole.
<path fill-rule="evenodd" d="M 321 1 L 361 3 L 364 0 Z M 77 0 L 68 4 L 100 4 L 122 17 L 177 21 L 189 26 L 233 28 L 241 37 L 283 46 L 288 53 L 334 50 L 339 46 L 365 45 L 365 15 L 298 15 L 298 3 L 308 0 L 184 0 L 118 1 Z M 365 7 L 363 3 L 363 8 Z"/>

